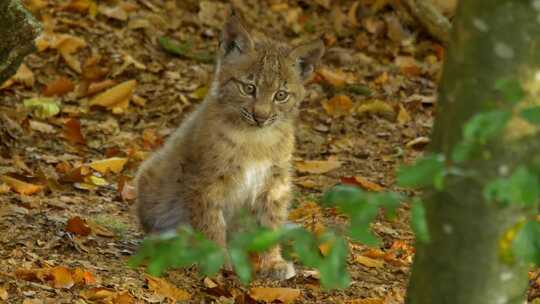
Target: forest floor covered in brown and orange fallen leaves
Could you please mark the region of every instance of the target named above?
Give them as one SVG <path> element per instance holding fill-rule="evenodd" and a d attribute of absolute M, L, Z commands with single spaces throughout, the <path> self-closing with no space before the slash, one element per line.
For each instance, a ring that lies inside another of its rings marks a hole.
<path fill-rule="evenodd" d="M 253 31 L 272 29 L 292 43 L 325 33 L 328 52 L 298 121 L 290 220 L 315 231 L 340 222 L 317 204 L 338 183 L 399 190 L 395 170 L 429 142 L 444 48 L 380 5 L 388 1 L 234 2 Z M 396 219 L 373 223 L 380 248 L 349 244 L 344 290 L 323 290 L 300 265 L 292 279 L 249 286 L 230 273 L 154 278 L 127 267 L 143 239 L 131 179 L 204 97 L 227 5 L 27 4 L 45 31 L 38 52 L 0 89 L 0 302 L 404 302 L 414 255 L 405 202 Z M 179 54 L 160 46 L 163 36 L 182 42 Z M 273 294 L 275 287 L 291 289 Z"/>

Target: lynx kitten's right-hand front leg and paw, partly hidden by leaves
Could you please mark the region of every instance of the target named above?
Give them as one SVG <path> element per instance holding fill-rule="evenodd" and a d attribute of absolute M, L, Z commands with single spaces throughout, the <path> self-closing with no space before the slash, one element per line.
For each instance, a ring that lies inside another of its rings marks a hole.
<path fill-rule="evenodd" d="M 276 169 L 271 177 L 269 188 L 257 202 L 257 220 L 263 227 L 280 228 L 287 219 L 290 201 L 290 177 L 285 168 Z M 275 246 L 261 256 L 261 275 L 285 280 L 295 275 L 294 266 L 281 256 L 281 249 Z"/>

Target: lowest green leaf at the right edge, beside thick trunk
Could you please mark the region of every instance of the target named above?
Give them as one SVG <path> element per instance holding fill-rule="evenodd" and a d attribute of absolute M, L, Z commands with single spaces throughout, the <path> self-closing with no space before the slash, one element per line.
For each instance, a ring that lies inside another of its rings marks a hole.
<path fill-rule="evenodd" d="M 529 221 L 512 241 L 512 252 L 525 263 L 540 265 L 540 223 Z"/>

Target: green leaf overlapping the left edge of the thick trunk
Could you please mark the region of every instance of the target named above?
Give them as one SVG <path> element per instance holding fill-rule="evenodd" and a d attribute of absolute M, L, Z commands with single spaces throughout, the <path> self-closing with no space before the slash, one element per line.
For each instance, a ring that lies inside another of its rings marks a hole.
<path fill-rule="evenodd" d="M 400 187 L 425 187 L 436 183 L 441 184 L 444 178 L 444 156 L 433 154 L 425 156 L 412 166 L 401 167 L 397 173 L 397 182 Z"/>

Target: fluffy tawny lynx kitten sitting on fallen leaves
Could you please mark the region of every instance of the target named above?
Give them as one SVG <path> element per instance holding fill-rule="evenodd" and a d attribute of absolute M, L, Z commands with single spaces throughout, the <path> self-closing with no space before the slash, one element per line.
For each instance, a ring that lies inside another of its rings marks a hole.
<path fill-rule="evenodd" d="M 225 247 L 243 208 L 262 226 L 283 225 L 294 120 L 323 52 L 320 40 L 290 48 L 252 37 L 231 14 L 208 96 L 137 174 L 146 232 L 188 225 Z M 262 255 L 260 269 L 276 279 L 295 273 L 278 247 Z"/>

